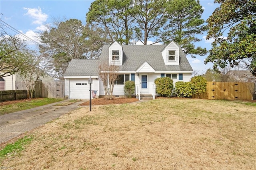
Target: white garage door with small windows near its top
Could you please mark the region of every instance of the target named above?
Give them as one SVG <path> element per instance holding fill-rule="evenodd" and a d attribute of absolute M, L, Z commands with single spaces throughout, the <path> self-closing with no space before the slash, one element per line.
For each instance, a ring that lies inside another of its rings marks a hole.
<path fill-rule="evenodd" d="M 90 84 L 88 78 L 70 78 L 70 99 L 89 99 Z"/>

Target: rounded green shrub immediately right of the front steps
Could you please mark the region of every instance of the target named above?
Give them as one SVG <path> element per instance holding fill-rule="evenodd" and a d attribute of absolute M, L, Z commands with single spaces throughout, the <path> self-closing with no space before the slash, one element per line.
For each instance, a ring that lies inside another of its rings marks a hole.
<path fill-rule="evenodd" d="M 156 93 L 163 97 L 170 97 L 172 95 L 173 80 L 169 77 L 156 78 Z"/>

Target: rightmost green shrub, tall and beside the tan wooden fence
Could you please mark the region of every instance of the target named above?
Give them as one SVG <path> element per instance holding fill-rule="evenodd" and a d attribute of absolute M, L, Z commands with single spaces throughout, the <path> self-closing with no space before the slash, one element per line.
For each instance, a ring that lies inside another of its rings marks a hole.
<path fill-rule="evenodd" d="M 206 91 L 206 78 L 203 76 L 194 76 L 191 78 L 190 82 L 194 84 L 194 94 L 200 95 Z"/>

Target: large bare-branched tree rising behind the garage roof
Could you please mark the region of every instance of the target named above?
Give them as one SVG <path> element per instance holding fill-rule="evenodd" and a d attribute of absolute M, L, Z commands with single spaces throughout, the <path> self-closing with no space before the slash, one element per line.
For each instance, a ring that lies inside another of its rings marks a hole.
<path fill-rule="evenodd" d="M 72 59 L 97 59 L 107 41 L 100 28 L 84 26 L 77 19 L 53 18 L 53 24 L 46 27 L 48 31 L 40 33 L 40 52 L 50 61 L 52 74 L 60 79 Z"/>

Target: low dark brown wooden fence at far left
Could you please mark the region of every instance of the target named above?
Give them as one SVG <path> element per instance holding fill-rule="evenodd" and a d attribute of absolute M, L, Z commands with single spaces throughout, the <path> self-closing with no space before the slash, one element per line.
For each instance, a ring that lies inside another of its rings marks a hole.
<path fill-rule="evenodd" d="M 0 91 L 0 102 L 28 98 L 27 90 L 4 90 Z"/>

